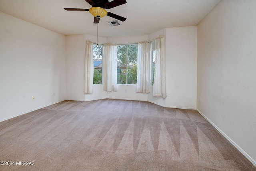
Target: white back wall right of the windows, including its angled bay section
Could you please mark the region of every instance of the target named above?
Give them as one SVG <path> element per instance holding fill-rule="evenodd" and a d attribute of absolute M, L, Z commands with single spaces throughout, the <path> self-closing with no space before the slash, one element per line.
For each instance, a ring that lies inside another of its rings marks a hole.
<path fill-rule="evenodd" d="M 148 101 L 166 107 L 196 109 L 197 26 L 166 28 L 149 35 L 165 36 L 167 97 L 148 95 Z M 152 92 L 151 87 L 151 92 Z"/>

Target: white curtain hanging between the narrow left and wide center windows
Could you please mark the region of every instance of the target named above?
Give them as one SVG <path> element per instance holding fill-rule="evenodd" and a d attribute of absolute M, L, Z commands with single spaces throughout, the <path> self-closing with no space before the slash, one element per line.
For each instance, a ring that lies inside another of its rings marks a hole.
<path fill-rule="evenodd" d="M 117 91 L 117 44 L 106 44 L 104 46 L 103 58 L 103 90 Z"/>

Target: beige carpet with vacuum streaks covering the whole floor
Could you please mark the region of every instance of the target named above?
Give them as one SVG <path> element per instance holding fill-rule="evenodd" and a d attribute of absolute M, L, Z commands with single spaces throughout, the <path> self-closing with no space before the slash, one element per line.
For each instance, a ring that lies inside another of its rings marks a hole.
<path fill-rule="evenodd" d="M 256 171 L 196 110 L 115 99 L 62 101 L 0 122 L 0 161 L 15 164 L 1 171 Z"/>

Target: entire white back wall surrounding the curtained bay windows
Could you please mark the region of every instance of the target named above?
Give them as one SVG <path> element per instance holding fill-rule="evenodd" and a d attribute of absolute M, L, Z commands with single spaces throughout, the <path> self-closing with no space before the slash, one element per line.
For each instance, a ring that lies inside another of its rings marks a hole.
<path fill-rule="evenodd" d="M 166 99 L 153 97 L 152 93 L 136 93 L 136 85 L 122 84 L 118 84 L 117 92 L 106 92 L 102 85 L 94 85 L 93 93 L 84 94 L 85 42 L 97 41 L 96 36 L 89 35 L 67 36 L 67 99 L 145 100 L 166 107 L 196 109 L 197 26 L 166 28 L 144 36 L 98 38 L 98 43 L 133 44 L 158 36 L 166 37 Z"/>

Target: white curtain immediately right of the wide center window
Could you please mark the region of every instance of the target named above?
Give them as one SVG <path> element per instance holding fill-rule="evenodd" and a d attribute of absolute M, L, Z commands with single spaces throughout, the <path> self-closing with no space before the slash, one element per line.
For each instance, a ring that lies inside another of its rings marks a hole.
<path fill-rule="evenodd" d="M 138 42 L 138 70 L 137 70 L 137 93 L 150 92 L 150 60 L 148 56 L 148 42 Z"/>

